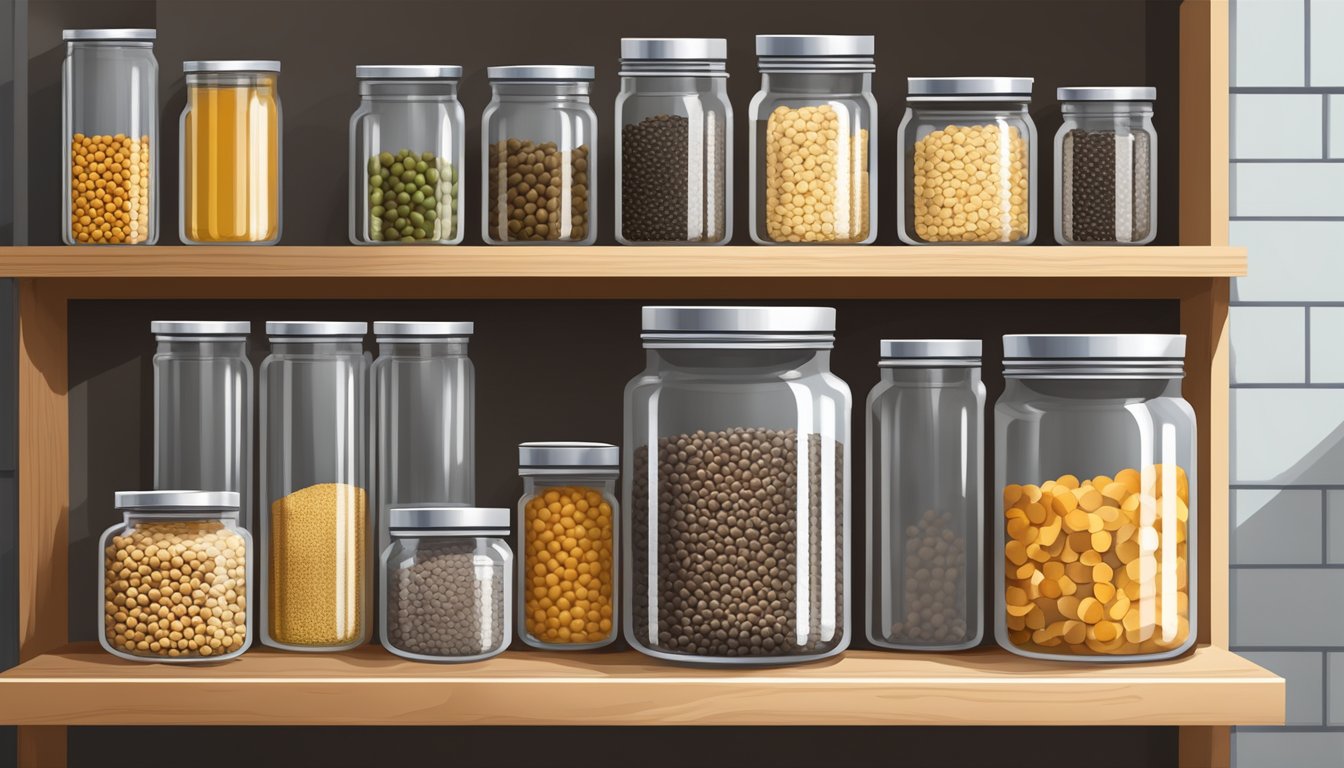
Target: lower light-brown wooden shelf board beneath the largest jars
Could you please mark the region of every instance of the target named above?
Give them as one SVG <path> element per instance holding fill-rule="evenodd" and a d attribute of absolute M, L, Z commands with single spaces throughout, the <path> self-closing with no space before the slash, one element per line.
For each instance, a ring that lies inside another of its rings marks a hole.
<path fill-rule="evenodd" d="M 9 725 L 1277 725 L 1284 701 L 1282 678 L 1218 647 L 1145 664 L 989 648 L 706 670 L 630 651 L 435 666 L 378 646 L 258 648 L 198 667 L 136 664 L 85 643 L 0 674 Z"/>

